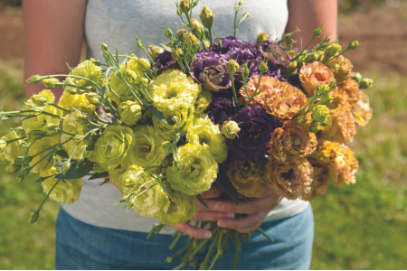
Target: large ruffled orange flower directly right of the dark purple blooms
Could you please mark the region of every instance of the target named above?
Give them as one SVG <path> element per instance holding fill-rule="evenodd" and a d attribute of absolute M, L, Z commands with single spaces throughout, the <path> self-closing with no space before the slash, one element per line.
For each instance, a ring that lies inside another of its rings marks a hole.
<path fill-rule="evenodd" d="M 253 95 L 256 90 L 259 76 L 252 76 L 247 83 L 247 91 L 249 95 Z M 289 82 L 281 82 L 279 79 L 262 76 L 260 79 L 259 89 L 260 94 L 251 99 L 250 106 L 260 106 L 267 110 L 267 113 L 278 118 L 280 121 L 292 119 L 297 116 L 299 109 L 307 104 L 307 97 L 300 89 L 289 84 Z M 244 87 L 240 90 L 241 98 L 239 103 L 246 105 L 249 98 L 244 97 L 246 91 Z"/>

